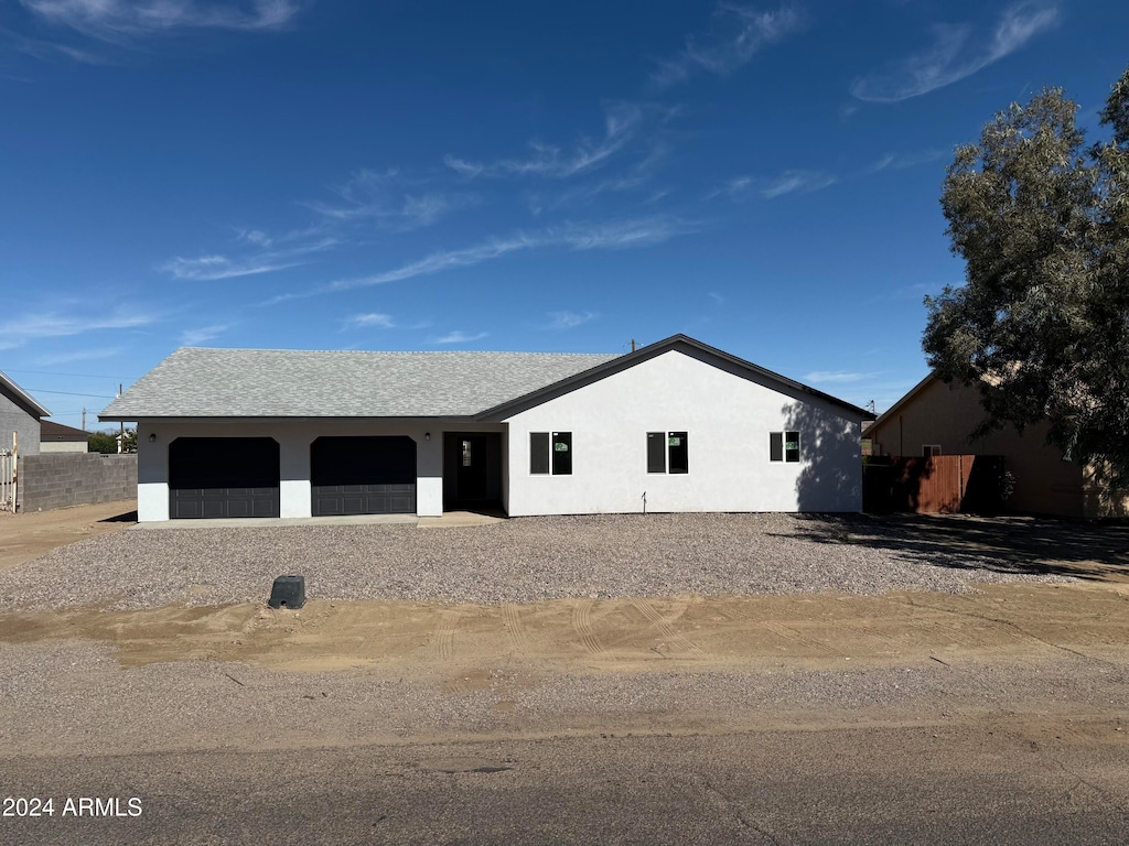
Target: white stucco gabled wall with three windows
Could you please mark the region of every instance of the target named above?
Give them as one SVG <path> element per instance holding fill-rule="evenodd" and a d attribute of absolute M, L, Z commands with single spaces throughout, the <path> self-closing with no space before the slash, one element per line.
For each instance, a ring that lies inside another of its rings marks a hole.
<path fill-rule="evenodd" d="M 860 511 L 860 423 L 677 351 L 509 417 L 511 517 L 647 511 Z M 769 460 L 798 430 L 800 462 Z M 530 473 L 530 433 L 572 433 L 572 474 Z M 685 431 L 685 475 L 647 473 L 647 432 Z"/>

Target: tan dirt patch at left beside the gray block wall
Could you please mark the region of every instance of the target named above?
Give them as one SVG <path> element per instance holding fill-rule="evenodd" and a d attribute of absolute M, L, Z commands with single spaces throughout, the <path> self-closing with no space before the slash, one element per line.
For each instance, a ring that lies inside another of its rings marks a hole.
<path fill-rule="evenodd" d="M 0 571 L 18 567 L 56 546 L 121 531 L 137 519 L 132 500 L 21 514 L 0 511 Z"/>

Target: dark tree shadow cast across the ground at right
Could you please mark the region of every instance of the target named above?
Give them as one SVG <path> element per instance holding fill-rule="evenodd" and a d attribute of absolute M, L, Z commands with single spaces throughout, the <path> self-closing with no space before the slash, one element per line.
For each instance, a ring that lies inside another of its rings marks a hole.
<path fill-rule="evenodd" d="M 998 573 L 1129 581 L 1129 526 L 965 514 L 797 514 L 794 537 Z"/>

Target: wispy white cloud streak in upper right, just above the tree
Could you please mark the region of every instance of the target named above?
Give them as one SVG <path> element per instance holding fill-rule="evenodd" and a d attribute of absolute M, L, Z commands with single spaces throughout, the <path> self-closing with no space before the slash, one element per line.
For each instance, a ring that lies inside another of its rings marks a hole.
<path fill-rule="evenodd" d="M 872 103 L 898 103 L 928 94 L 998 62 L 1057 23 L 1058 8 L 1035 0 L 1007 8 L 990 35 L 966 24 L 938 24 L 928 50 L 855 80 L 850 92 Z"/>

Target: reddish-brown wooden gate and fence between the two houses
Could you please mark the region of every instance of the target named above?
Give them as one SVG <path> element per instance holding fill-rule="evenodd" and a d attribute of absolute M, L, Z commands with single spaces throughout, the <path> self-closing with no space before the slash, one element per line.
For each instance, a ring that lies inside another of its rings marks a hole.
<path fill-rule="evenodd" d="M 999 456 L 872 456 L 863 466 L 863 510 L 998 512 L 1003 473 Z"/>

